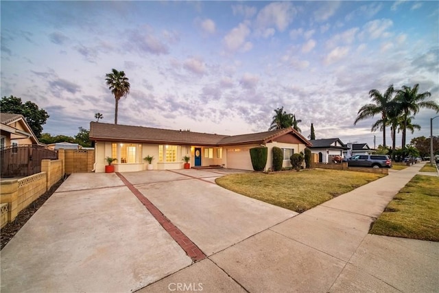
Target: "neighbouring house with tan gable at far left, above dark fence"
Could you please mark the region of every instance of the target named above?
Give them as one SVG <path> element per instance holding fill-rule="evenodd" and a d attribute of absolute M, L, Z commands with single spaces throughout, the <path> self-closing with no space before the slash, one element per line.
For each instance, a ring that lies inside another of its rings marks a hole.
<path fill-rule="evenodd" d="M 0 113 L 0 149 L 32 144 L 40 142 L 23 115 Z"/>

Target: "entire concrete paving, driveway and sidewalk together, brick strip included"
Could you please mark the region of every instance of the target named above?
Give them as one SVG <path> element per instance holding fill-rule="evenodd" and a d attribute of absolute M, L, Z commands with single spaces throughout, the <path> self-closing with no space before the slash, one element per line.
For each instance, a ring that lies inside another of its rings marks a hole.
<path fill-rule="evenodd" d="M 435 292 L 438 242 L 368 234 L 420 167 L 300 215 L 215 185 L 234 170 L 72 174 L 1 251 L 1 292 Z"/>

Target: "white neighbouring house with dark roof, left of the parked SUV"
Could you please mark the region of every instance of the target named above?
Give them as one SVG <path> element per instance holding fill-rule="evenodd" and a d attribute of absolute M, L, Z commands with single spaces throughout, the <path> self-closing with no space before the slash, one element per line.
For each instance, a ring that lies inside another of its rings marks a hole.
<path fill-rule="evenodd" d="M 334 139 L 311 139 L 309 141 L 312 145 L 309 148 L 311 153 L 318 154 L 319 163 L 331 163 L 335 156 L 344 158 L 344 151 L 348 147 L 338 138 Z"/>

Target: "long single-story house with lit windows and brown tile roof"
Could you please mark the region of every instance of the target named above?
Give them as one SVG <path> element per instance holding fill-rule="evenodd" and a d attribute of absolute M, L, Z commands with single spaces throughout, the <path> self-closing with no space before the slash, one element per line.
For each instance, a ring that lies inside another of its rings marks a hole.
<path fill-rule="evenodd" d="M 305 152 L 311 143 L 293 128 L 241 135 L 221 135 L 91 122 L 90 139 L 95 142 L 95 172 L 104 172 L 106 157 L 117 159 L 116 172 L 146 169 L 145 156 L 154 156 L 154 169 L 182 169 L 184 156 L 191 166 L 220 165 L 230 169 L 252 170 L 250 148 L 266 146 L 272 167 L 272 148 L 283 150 L 283 166 L 291 166 L 289 157 Z"/>

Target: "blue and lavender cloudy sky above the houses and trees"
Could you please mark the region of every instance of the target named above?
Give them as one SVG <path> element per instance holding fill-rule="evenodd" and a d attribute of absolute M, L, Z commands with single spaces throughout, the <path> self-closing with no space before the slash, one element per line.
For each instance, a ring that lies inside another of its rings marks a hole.
<path fill-rule="evenodd" d="M 1 1 L 1 97 L 73 136 L 97 112 L 114 123 L 115 68 L 131 84 L 119 124 L 243 134 L 284 106 L 305 137 L 312 122 L 318 139 L 373 148 L 376 119 L 353 125 L 371 89 L 418 83 L 439 102 L 438 19 L 438 1 Z M 436 115 L 421 110 L 407 142 Z"/>

